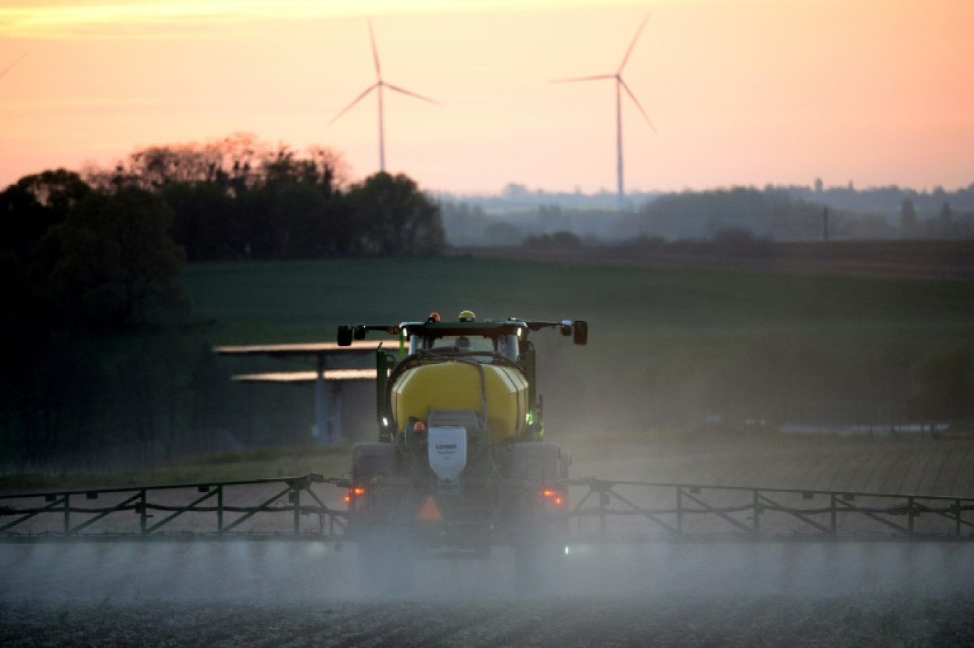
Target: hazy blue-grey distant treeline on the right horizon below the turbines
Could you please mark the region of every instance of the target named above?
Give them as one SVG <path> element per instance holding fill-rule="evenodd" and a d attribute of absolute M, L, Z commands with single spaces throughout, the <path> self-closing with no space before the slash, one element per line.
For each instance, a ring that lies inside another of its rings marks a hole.
<path fill-rule="evenodd" d="M 845 200 L 833 195 L 841 193 Z M 853 200 L 854 196 L 862 200 Z M 849 205 L 888 205 L 857 211 Z M 821 202 L 819 202 L 819 200 Z M 828 201 L 828 202 L 827 202 Z M 935 201 L 939 201 L 933 209 Z M 961 206 L 952 207 L 952 201 Z M 543 205 L 530 210 L 487 211 L 476 202 L 444 202 L 447 239 L 458 246 L 534 245 L 538 237 L 573 234 L 589 245 L 640 238 L 661 241 L 967 241 L 974 236 L 974 185 L 953 194 L 911 190 L 736 187 L 661 194 L 638 210 L 570 209 Z"/>

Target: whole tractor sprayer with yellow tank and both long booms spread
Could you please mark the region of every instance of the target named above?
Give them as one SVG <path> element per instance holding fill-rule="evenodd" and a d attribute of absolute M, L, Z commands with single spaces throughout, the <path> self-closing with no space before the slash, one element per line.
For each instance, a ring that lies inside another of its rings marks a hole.
<path fill-rule="evenodd" d="M 567 448 L 544 430 L 531 341 L 544 330 L 587 342 L 583 321 L 464 311 L 343 325 L 337 344 L 224 348 L 317 357 L 303 379 L 318 385 L 319 410 L 329 381 L 374 380 L 377 438 L 352 446 L 343 476 L 4 495 L 0 541 L 351 542 L 363 582 L 381 589 L 404 586 L 415 558 L 497 547 L 513 549 L 531 587 L 583 543 L 974 541 L 970 497 L 573 477 Z M 374 372 L 328 368 L 352 352 L 374 354 Z"/>

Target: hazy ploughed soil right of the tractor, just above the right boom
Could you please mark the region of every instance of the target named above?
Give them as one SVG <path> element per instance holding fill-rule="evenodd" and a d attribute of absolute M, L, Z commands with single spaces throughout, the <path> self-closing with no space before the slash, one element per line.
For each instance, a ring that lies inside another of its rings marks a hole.
<path fill-rule="evenodd" d="M 974 438 L 723 432 L 560 439 L 573 476 L 974 497 Z"/>

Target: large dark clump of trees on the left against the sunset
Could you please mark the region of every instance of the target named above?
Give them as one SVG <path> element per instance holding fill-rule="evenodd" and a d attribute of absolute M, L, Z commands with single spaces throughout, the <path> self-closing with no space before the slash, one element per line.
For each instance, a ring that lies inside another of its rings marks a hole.
<path fill-rule="evenodd" d="M 136 151 L 0 193 L 0 284 L 30 324 L 112 326 L 185 314 L 185 261 L 437 254 L 438 207 L 406 175 L 346 186 L 340 159 L 251 135 Z"/>

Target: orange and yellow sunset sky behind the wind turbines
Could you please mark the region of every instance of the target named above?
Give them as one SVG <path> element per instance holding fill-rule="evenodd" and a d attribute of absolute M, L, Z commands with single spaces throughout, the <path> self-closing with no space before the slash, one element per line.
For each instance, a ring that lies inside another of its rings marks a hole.
<path fill-rule="evenodd" d="M 0 187 L 255 133 L 424 189 L 974 182 L 971 0 L 0 0 Z"/>

